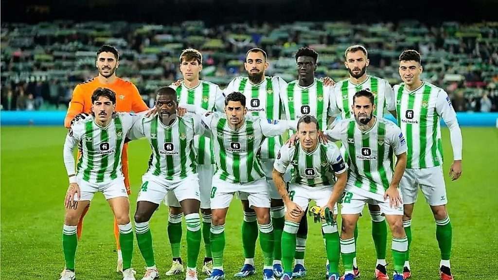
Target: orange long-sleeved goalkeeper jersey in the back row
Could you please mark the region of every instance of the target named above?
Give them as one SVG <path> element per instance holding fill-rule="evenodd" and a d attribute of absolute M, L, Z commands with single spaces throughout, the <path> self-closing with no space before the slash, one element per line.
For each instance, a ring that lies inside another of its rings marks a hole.
<path fill-rule="evenodd" d="M 138 93 L 133 83 L 116 77 L 112 84 L 102 84 L 97 77 L 78 84 L 73 91 L 73 97 L 67 110 L 64 126 L 71 127 L 71 120 L 80 114 L 90 114 L 92 108 L 92 94 L 97 88 L 108 88 L 116 93 L 116 111 L 118 112 L 142 112 L 149 108 Z"/>

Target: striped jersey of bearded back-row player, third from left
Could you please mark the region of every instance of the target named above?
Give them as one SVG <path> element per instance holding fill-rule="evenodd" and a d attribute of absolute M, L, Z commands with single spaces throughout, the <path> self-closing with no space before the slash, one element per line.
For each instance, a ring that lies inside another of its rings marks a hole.
<path fill-rule="evenodd" d="M 263 119 L 281 119 L 282 103 L 280 102 L 280 88 L 285 81 L 280 77 L 265 77 L 254 85 L 247 77 L 234 78 L 223 91 L 225 96 L 237 91 L 246 96 L 248 115 L 259 116 Z M 282 145 L 281 137 L 271 137 L 264 140 L 261 146 L 260 158 L 275 158 Z"/>

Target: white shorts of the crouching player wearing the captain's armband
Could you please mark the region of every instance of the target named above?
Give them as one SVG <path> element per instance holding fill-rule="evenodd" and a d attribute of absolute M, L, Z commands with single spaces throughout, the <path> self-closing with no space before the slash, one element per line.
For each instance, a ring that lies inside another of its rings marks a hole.
<path fill-rule="evenodd" d="M 289 183 L 287 191 L 289 192 L 290 200 L 305 210 L 311 200 L 314 200 L 319 207 L 327 205 L 332 195 L 332 190 L 332 186 L 308 187 L 297 183 Z M 337 203 L 334 205 L 334 214 L 337 214 Z"/>

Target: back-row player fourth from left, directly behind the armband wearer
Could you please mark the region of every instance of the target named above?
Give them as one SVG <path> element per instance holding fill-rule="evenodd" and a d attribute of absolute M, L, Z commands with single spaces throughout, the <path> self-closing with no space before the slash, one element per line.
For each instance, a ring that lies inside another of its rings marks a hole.
<path fill-rule="evenodd" d="M 327 121 L 333 119 L 330 117 L 329 109 L 329 99 L 333 88 L 325 86 L 322 80 L 315 78 L 318 53 L 309 47 L 301 47 L 296 52 L 295 59 L 298 78 L 280 89 L 286 119 L 299 120 L 302 116 L 309 115 L 318 120 L 320 127 L 326 128 Z M 306 275 L 304 251 L 307 234 L 307 220 L 304 215 L 297 232 L 294 278 Z"/>

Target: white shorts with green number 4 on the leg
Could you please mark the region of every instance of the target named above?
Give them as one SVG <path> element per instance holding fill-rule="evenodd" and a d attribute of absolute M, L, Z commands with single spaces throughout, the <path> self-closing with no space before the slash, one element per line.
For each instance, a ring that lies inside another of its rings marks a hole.
<path fill-rule="evenodd" d="M 170 181 L 154 175 L 145 174 L 142 176 L 142 186 L 140 187 L 140 192 L 138 193 L 136 201 L 148 201 L 160 204 L 166 197 L 166 194 L 170 193 L 171 197 L 175 200 L 171 201 L 173 204 L 185 199 L 200 201 L 199 178 L 197 177 L 197 174 L 188 175 L 185 179 L 180 181 Z M 180 206 L 179 203 L 177 205 L 178 207 Z"/>

